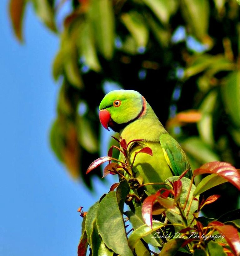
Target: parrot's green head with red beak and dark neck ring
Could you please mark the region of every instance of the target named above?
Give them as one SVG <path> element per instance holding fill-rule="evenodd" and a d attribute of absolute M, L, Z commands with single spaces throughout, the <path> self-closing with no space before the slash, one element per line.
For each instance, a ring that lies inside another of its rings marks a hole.
<path fill-rule="evenodd" d="M 144 97 L 134 90 L 109 92 L 99 105 L 99 119 L 104 128 L 120 131 L 130 122 L 145 114 L 147 107 Z"/>

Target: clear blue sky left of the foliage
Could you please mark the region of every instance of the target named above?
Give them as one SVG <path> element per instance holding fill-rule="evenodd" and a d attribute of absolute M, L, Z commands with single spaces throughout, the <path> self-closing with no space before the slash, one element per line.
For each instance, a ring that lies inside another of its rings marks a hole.
<path fill-rule="evenodd" d="M 107 192 L 73 181 L 49 145 L 59 84 L 51 65 L 58 38 L 37 19 L 24 20 L 25 43 L 10 27 L 7 0 L 0 1 L 0 255 L 76 255 L 83 210 Z"/>

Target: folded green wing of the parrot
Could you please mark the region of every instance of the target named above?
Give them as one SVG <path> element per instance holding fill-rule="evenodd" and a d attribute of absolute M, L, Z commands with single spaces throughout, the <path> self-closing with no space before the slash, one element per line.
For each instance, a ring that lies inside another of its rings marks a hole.
<path fill-rule="evenodd" d="M 178 142 L 168 133 L 160 135 L 160 143 L 163 148 L 164 157 L 171 168 L 174 176 L 180 176 L 185 170 L 189 171 L 185 177 L 191 179 L 192 170 L 187 157 Z"/>

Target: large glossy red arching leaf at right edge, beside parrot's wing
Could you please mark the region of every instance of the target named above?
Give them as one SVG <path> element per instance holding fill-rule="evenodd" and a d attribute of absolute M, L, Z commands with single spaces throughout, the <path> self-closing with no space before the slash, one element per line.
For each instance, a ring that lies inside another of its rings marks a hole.
<path fill-rule="evenodd" d="M 194 170 L 193 175 L 197 176 L 204 173 L 215 173 L 240 190 L 240 173 L 230 163 L 218 161 L 205 163 L 200 168 Z"/>

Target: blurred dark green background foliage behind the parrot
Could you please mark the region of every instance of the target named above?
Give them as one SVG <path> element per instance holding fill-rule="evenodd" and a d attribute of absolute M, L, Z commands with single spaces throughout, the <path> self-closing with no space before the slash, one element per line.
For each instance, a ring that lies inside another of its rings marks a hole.
<path fill-rule="evenodd" d="M 92 189 L 91 175 L 102 176 L 100 170 L 85 173 L 113 143 L 100 128 L 98 105 L 115 88 L 139 91 L 163 125 L 174 124 L 168 131 L 182 144 L 193 169 L 216 160 L 239 168 L 236 0 L 11 0 L 12 27 L 20 41 L 24 8 L 30 3 L 59 37 L 52 72 L 60 86 L 50 140 L 72 177 Z M 70 11 L 64 11 L 66 6 Z M 179 121 L 177 114 L 187 110 L 198 117 Z M 231 185 L 220 185 L 218 192 L 226 186 L 227 193 L 213 203 L 219 211 L 212 216 L 220 216 L 222 203 L 229 210 L 237 207 Z"/>

